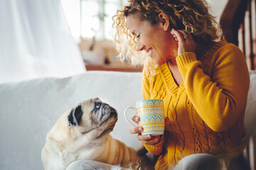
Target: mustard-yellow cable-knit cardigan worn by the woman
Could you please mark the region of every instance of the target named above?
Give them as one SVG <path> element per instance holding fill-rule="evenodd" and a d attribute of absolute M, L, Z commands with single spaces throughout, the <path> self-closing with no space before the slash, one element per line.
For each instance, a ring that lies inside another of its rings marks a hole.
<path fill-rule="evenodd" d="M 189 154 L 225 154 L 245 147 L 244 115 L 250 79 L 245 57 L 225 40 L 197 60 L 195 53 L 176 57 L 183 82 L 178 86 L 165 63 L 149 77 L 143 71 L 144 99 L 164 100 L 171 124 L 161 141 L 145 145 L 160 155 L 155 169 L 170 169 Z"/>

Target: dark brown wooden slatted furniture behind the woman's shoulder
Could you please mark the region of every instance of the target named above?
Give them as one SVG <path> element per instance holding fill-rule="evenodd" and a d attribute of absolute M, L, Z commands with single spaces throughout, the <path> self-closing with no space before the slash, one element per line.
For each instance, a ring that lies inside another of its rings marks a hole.
<path fill-rule="evenodd" d="M 256 34 L 255 4 L 255 0 L 229 0 L 220 17 L 220 26 L 225 39 L 241 48 L 250 69 L 255 69 L 256 62 L 255 51 L 253 51 L 256 42 L 252 34 L 252 31 Z"/>

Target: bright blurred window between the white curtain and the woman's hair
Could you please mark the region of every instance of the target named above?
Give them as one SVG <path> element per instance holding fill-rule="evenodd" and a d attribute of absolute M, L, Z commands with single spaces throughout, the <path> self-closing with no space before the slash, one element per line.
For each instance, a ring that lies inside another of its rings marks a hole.
<path fill-rule="evenodd" d="M 112 39 L 112 16 L 127 0 L 60 0 L 75 38 Z"/>

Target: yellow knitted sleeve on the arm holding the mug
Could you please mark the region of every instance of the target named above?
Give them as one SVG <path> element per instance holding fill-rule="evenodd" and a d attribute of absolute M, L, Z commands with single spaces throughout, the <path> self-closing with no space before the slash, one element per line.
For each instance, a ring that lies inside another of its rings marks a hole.
<path fill-rule="evenodd" d="M 150 79 L 146 75 L 145 70 L 143 70 L 142 73 L 142 96 L 143 100 L 151 99 L 151 93 L 150 93 Z M 163 149 L 163 141 L 164 141 L 164 135 L 162 135 L 161 140 L 156 145 L 144 145 L 145 148 L 151 153 L 155 155 L 159 155 L 162 152 Z"/>

